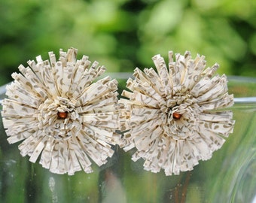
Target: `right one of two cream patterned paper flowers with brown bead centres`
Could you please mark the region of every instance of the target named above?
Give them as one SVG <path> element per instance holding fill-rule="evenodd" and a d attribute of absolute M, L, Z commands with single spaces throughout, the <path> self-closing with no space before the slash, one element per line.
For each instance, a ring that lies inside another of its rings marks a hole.
<path fill-rule="evenodd" d="M 210 159 L 233 132 L 233 105 L 225 75 L 215 75 L 218 64 L 206 68 L 204 56 L 191 59 L 169 52 L 169 67 L 160 55 L 154 68 L 135 69 L 120 99 L 120 127 L 124 150 L 136 148 L 133 160 L 145 159 L 145 170 L 166 175 L 190 171 L 199 160 Z"/>

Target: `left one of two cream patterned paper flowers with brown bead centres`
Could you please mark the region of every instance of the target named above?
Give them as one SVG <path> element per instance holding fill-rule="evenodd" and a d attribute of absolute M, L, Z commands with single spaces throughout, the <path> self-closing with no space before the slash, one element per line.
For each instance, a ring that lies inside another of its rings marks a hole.
<path fill-rule="evenodd" d="M 104 66 L 87 56 L 77 60 L 77 50 L 53 52 L 50 62 L 29 61 L 14 73 L 14 82 L 7 87 L 3 102 L 3 123 L 8 142 L 19 145 L 22 156 L 56 174 L 74 174 L 82 169 L 92 172 L 92 159 L 103 165 L 119 142 L 117 80 L 104 77 Z M 90 157 L 90 159 L 88 158 Z"/>

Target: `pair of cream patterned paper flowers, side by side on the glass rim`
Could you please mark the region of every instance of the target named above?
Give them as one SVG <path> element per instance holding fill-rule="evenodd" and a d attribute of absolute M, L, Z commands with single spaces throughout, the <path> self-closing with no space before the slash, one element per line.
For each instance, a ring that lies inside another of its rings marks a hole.
<path fill-rule="evenodd" d="M 218 65 L 206 68 L 204 56 L 169 52 L 166 67 L 160 55 L 154 68 L 136 68 L 127 80 L 123 98 L 117 98 L 117 80 L 104 77 L 98 62 L 78 50 L 41 56 L 29 67 L 12 74 L 2 102 L 2 120 L 8 142 L 22 141 L 22 156 L 56 174 L 92 172 L 91 161 L 103 165 L 118 144 L 136 148 L 133 160 L 145 160 L 145 170 L 166 175 L 192 170 L 199 160 L 210 159 L 233 132 L 233 95 Z M 215 76 L 214 76 L 215 75 Z M 117 132 L 124 132 L 123 135 Z"/>

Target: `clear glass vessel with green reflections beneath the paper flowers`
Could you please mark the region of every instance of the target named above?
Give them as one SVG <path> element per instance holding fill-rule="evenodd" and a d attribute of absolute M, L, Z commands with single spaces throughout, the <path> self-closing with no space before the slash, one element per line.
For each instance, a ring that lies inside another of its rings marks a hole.
<path fill-rule="evenodd" d="M 119 76 L 124 89 L 126 76 Z M 256 96 L 255 78 L 229 80 L 229 92 L 236 98 Z M 92 174 L 52 174 L 38 162 L 29 162 L 28 156 L 20 156 L 18 144 L 8 144 L 1 120 L 0 201 L 256 202 L 256 103 L 245 102 L 233 106 L 234 132 L 212 159 L 200 161 L 193 171 L 168 177 L 163 171 L 144 171 L 143 160 L 133 162 L 133 151 L 124 153 L 119 147 L 114 147 L 106 165 L 93 164 Z"/>

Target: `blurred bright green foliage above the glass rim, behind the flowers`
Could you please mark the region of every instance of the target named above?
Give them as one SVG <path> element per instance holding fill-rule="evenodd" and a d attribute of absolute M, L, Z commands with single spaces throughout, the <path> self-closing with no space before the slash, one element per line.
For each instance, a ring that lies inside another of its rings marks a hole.
<path fill-rule="evenodd" d="M 0 3 L 0 85 L 20 64 L 78 48 L 108 71 L 190 50 L 219 73 L 256 76 L 254 0 L 8 0 Z"/>

